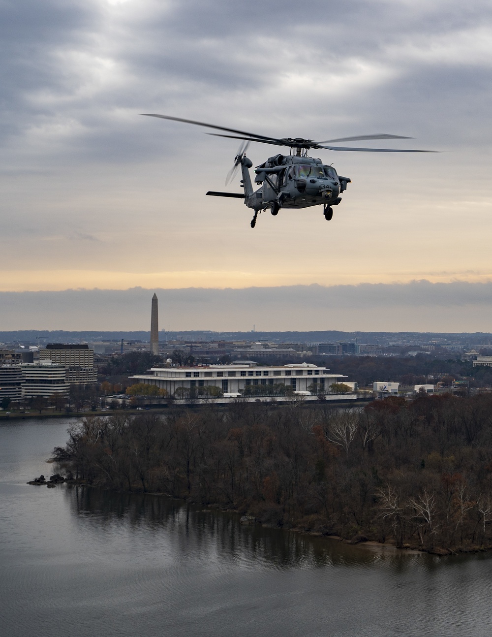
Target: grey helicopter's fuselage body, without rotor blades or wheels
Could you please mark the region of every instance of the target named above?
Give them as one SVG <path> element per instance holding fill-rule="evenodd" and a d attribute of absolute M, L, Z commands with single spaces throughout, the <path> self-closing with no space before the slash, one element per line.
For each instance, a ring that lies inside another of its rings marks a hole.
<path fill-rule="evenodd" d="M 275 155 L 255 168 L 255 183 L 260 184 L 260 188 L 253 190 L 251 166 L 250 159 L 244 156 L 241 160 L 244 203 L 258 211 L 272 208 L 274 214 L 279 208 L 336 206 L 341 201 L 339 194 L 350 182 L 321 159 Z"/>

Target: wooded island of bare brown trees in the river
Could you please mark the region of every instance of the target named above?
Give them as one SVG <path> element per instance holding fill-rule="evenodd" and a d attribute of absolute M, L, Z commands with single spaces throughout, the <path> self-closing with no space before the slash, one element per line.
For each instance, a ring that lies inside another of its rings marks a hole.
<path fill-rule="evenodd" d="M 434 552 L 492 544 L 492 396 L 390 397 L 363 410 L 237 399 L 85 419 L 73 477 L 235 509 L 274 526 Z"/>

